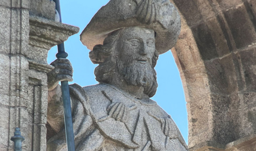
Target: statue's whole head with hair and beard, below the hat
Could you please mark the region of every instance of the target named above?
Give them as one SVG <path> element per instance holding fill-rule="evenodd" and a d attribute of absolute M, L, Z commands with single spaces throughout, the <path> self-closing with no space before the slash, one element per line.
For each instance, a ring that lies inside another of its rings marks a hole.
<path fill-rule="evenodd" d="M 94 64 L 96 80 L 111 84 L 120 75 L 128 85 L 144 87 L 149 97 L 156 93 L 158 59 L 155 49 L 155 33 L 143 27 L 129 27 L 112 32 L 103 45 L 94 46 L 89 53 Z"/>

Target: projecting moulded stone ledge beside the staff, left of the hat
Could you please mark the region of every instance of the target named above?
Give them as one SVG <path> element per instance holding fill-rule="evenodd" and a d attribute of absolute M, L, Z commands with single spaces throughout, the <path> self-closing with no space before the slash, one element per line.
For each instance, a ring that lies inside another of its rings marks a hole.
<path fill-rule="evenodd" d="M 54 22 L 38 16 L 29 17 L 29 44 L 44 49 L 50 49 L 60 44 L 69 36 L 79 32 L 79 28 L 60 22 Z"/>

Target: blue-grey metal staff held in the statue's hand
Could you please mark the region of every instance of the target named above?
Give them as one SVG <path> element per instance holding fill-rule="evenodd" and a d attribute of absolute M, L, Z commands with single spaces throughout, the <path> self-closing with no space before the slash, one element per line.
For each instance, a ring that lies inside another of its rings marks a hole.
<path fill-rule="evenodd" d="M 59 19 L 61 22 L 61 12 L 59 0 L 53 0 L 55 2 L 55 8 L 59 12 Z M 68 54 L 65 52 L 64 43 L 58 45 L 57 58 L 67 58 Z M 70 105 L 70 95 L 69 95 L 69 83 L 68 81 L 61 81 L 61 92 L 64 107 L 64 121 L 66 130 L 66 140 L 68 151 L 75 151 L 75 141 L 74 141 L 74 131 L 73 131 L 73 121 L 71 115 L 71 105 Z"/>

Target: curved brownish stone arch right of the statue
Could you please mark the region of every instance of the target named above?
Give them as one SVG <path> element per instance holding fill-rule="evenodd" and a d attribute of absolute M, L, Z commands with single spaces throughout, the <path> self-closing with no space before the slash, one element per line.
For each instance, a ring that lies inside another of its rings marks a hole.
<path fill-rule="evenodd" d="M 182 20 L 172 49 L 189 121 L 189 148 L 227 148 L 256 133 L 256 1 L 171 0 Z"/>

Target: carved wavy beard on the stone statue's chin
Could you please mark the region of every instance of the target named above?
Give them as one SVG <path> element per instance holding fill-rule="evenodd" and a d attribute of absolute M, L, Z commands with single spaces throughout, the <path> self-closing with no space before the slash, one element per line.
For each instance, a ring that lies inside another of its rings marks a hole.
<path fill-rule="evenodd" d="M 154 68 L 147 61 L 144 64 L 137 60 L 117 61 L 118 72 L 128 85 L 142 86 L 147 92 L 154 82 Z"/>

